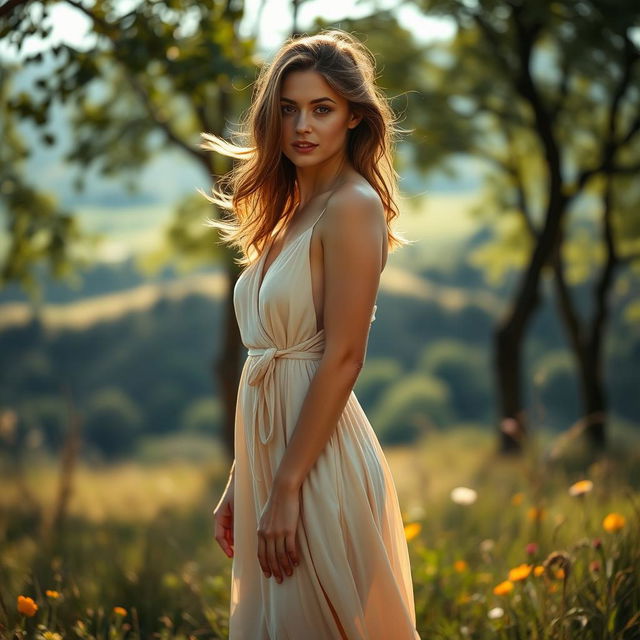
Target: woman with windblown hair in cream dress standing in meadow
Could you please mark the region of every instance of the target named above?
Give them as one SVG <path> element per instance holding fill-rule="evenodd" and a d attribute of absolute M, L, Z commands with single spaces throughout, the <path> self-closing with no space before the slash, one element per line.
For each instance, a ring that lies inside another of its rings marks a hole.
<path fill-rule="evenodd" d="M 245 145 L 209 221 L 246 266 L 234 307 L 248 357 L 235 460 L 214 511 L 233 558 L 234 640 L 414 640 L 396 489 L 352 388 L 388 247 L 406 243 L 393 114 L 371 53 L 328 30 L 290 39 L 256 82 Z"/>

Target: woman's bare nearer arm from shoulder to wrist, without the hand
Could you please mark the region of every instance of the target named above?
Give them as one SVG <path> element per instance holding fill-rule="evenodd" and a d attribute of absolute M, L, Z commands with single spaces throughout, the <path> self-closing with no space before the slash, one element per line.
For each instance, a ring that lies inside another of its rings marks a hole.
<path fill-rule="evenodd" d="M 325 448 L 364 364 L 387 226 L 377 194 L 336 194 L 325 212 L 325 351 L 274 478 L 297 491 Z"/>

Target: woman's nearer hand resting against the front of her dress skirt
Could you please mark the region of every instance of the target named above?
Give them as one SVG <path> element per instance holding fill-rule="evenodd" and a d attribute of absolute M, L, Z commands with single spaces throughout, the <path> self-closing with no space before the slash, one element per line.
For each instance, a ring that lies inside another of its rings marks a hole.
<path fill-rule="evenodd" d="M 258 561 L 265 577 L 282 582 L 300 564 L 296 531 L 300 516 L 300 490 L 274 485 L 258 523 Z"/>

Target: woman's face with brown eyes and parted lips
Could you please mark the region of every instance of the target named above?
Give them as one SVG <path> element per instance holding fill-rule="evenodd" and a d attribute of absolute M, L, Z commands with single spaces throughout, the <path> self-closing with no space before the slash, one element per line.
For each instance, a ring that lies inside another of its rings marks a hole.
<path fill-rule="evenodd" d="M 280 92 L 282 152 L 298 167 L 313 166 L 345 152 L 347 134 L 360 117 L 317 71 L 291 71 Z M 296 146 L 305 141 L 314 146 Z"/>

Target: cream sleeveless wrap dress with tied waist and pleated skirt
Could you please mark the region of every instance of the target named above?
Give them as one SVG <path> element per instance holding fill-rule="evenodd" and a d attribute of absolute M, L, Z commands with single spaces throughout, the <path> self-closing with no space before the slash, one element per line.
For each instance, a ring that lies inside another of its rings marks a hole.
<path fill-rule="evenodd" d="M 300 564 L 278 584 L 258 562 L 258 522 L 324 348 L 309 247 L 325 210 L 264 276 L 263 251 L 233 292 L 248 355 L 235 421 L 230 640 L 340 640 L 332 608 L 349 640 L 420 640 L 395 485 L 353 391 L 301 488 Z"/>

